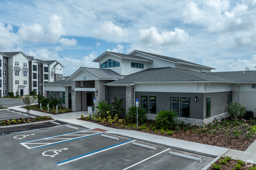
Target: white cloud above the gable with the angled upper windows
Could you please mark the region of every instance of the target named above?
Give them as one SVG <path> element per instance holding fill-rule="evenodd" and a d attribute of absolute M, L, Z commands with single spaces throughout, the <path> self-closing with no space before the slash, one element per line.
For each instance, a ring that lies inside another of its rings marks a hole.
<path fill-rule="evenodd" d="M 110 41 L 126 41 L 128 31 L 113 24 L 112 21 L 106 21 L 96 29 L 93 29 L 96 38 Z"/>

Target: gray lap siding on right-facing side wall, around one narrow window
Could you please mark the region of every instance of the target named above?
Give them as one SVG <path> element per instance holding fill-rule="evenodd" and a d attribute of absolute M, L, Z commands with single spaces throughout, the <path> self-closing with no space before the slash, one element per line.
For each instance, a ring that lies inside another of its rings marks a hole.
<path fill-rule="evenodd" d="M 206 119 L 206 97 L 211 97 L 211 116 L 210 117 L 214 117 L 226 112 L 225 105 L 228 104 L 228 95 L 232 95 L 232 91 L 204 93 L 204 100 L 203 100 L 204 119 Z"/>

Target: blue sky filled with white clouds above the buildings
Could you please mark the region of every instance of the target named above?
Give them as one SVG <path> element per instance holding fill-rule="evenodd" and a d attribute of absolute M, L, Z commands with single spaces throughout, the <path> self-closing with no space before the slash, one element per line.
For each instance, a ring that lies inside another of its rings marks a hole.
<path fill-rule="evenodd" d="M 1 0 L 0 50 L 58 60 L 64 76 L 134 50 L 255 70 L 256 0 Z"/>

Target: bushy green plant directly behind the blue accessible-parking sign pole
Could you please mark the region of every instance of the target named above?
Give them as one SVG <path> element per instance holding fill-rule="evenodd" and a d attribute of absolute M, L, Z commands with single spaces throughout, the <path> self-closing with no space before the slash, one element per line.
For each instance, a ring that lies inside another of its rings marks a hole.
<path fill-rule="evenodd" d="M 137 107 L 132 106 L 127 110 L 126 120 L 129 123 L 137 122 Z M 147 112 L 138 107 L 138 124 L 144 123 L 147 121 Z"/>

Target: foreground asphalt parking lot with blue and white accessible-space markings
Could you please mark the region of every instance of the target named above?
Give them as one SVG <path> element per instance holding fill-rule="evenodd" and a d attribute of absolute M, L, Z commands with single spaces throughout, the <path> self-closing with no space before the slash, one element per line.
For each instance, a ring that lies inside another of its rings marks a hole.
<path fill-rule="evenodd" d="M 66 125 L 0 136 L 3 169 L 202 169 L 214 158 Z M 114 137 L 109 139 L 103 137 Z M 118 140 L 116 140 L 118 139 Z M 135 145 L 145 144 L 155 150 Z M 169 154 L 200 158 L 194 161 Z"/>

